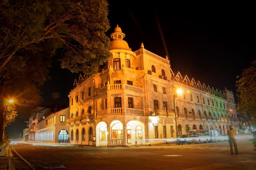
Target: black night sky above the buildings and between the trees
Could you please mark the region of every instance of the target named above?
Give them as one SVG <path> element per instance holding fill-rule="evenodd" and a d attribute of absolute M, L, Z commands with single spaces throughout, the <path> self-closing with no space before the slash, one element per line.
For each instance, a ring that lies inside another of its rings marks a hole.
<path fill-rule="evenodd" d="M 256 59 L 256 10 L 252 4 L 108 2 L 111 26 L 108 37 L 118 24 L 133 51 L 143 42 L 145 49 L 162 57 L 168 55 L 174 72 L 187 74 L 190 79 L 194 77 L 206 86 L 220 90 L 226 87 L 236 95 L 237 75 Z M 79 74 L 61 69 L 57 59 L 50 68 L 51 80 L 42 88 L 42 104 L 58 102 L 68 106 L 67 96 Z M 22 133 L 26 120 L 18 116 L 6 128 L 13 134 L 11 137 Z"/>

